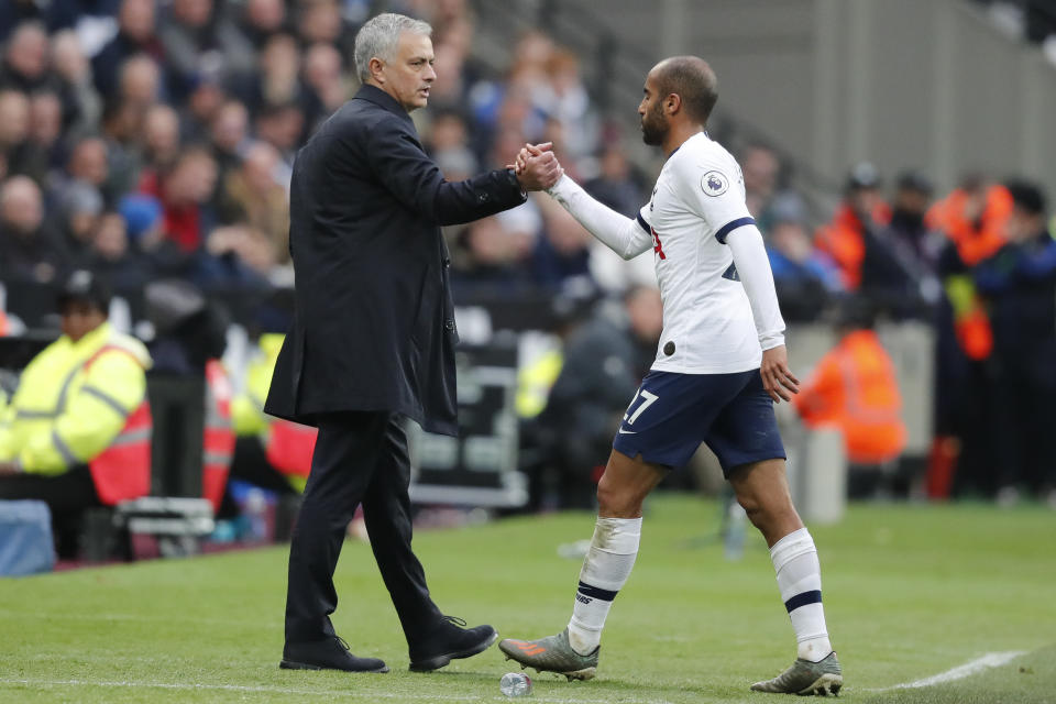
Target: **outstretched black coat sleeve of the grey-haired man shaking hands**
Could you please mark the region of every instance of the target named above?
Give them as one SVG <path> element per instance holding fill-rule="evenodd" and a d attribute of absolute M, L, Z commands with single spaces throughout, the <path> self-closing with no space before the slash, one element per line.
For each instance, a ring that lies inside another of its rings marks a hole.
<path fill-rule="evenodd" d="M 372 130 L 366 140 L 371 168 L 397 200 L 440 226 L 460 224 L 522 204 L 526 196 L 508 170 L 493 170 L 462 182 L 443 178 L 410 131 Z"/>

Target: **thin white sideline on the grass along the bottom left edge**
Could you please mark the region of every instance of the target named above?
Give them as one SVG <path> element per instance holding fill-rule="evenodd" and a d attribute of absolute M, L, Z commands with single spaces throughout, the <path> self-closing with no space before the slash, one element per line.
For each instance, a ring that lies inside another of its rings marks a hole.
<path fill-rule="evenodd" d="M 246 686 L 241 684 L 191 684 L 186 682 L 110 682 L 101 680 L 20 680 L 0 678 L 0 685 L 24 684 L 28 686 L 101 686 L 101 688 L 143 688 L 158 690 L 194 690 L 194 691 L 223 691 L 223 692 L 248 692 L 260 694 L 298 694 L 307 696 L 342 696 L 342 697 L 367 697 L 372 700 L 416 700 L 421 702 L 488 702 L 505 701 L 506 697 L 501 694 L 495 696 L 482 696 L 479 694 L 409 694 L 396 692 L 349 692 L 341 690 L 301 690 L 284 686 Z M 498 689 L 496 682 L 496 690 Z M 612 704 L 610 700 L 584 700 L 579 696 L 575 698 L 562 698 L 552 696 L 532 696 L 536 702 L 549 702 L 550 704 Z M 666 700 L 628 700 L 620 697 L 620 702 L 627 704 L 671 704 Z"/>

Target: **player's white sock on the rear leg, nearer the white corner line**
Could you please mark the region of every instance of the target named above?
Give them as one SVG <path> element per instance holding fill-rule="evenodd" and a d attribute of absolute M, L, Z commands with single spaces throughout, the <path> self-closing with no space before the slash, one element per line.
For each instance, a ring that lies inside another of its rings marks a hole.
<path fill-rule="evenodd" d="M 789 609 L 799 657 L 811 662 L 833 651 L 825 629 L 822 607 L 822 566 L 817 561 L 814 539 L 806 528 L 790 532 L 770 548 L 770 559 L 778 573 L 781 601 Z"/>

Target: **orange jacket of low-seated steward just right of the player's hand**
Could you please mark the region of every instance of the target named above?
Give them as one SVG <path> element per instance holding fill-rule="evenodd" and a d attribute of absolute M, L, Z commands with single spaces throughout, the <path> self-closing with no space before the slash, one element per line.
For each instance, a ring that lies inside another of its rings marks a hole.
<path fill-rule="evenodd" d="M 839 428 L 856 464 L 893 460 L 905 447 L 894 365 L 871 330 L 849 333 L 822 358 L 794 404 L 807 427 Z"/>

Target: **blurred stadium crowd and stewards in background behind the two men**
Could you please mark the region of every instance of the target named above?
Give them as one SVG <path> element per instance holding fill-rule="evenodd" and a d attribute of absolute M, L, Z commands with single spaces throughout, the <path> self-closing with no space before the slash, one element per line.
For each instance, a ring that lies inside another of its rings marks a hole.
<path fill-rule="evenodd" d="M 0 0 L 0 282 L 59 285 L 87 268 L 118 294 L 160 278 L 207 294 L 289 287 L 293 158 L 353 95 L 352 41 L 377 4 L 435 28 L 439 77 L 414 118 L 447 178 L 552 141 L 606 205 L 634 215 L 646 202 L 651 179 L 624 148 L 637 135 L 592 105 L 576 53 L 530 32 L 497 70 L 471 51 L 464 0 Z M 884 180 L 862 163 L 818 221 L 777 151 L 730 148 L 788 321 L 829 320 L 854 299 L 869 319 L 934 326 L 936 494 L 1025 491 L 1056 506 L 1044 194 L 982 174 L 941 194 L 925 174 Z M 446 237 L 457 301 L 554 301 L 565 346 L 524 371 L 539 393 L 519 408 L 537 460 L 588 481 L 604 454 L 583 455 L 604 451 L 659 339 L 651 257 L 623 262 L 544 197 Z M 4 328 L 21 331 L 15 316 Z M 598 365 L 600 349 L 616 353 Z"/>

